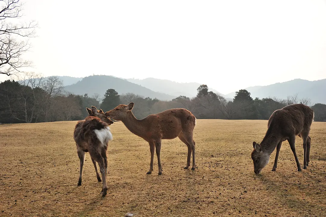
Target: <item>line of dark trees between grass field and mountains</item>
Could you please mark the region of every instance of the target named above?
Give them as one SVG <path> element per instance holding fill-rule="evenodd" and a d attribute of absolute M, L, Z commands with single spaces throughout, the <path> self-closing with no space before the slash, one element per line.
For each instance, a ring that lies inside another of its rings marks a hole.
<path fill-rule="evenodd" d="M 0 123 L 36 123 L 69 121 L 85 118 L 86 107 L 96 106 L 109 111 L 119 104 L 134 102 L 133 110 L 137 118 L 162 112 L 171 108 L 185 108 L 198 119 L 263 119 L 286 105 L 303 103 L 315 112 L 315 121 L 326 121 L 326 105 L 311 105 L 309 99 L 299 99 L 297 95 L 287 99 L 252 99 L 247 90 L 236 92 L 233 101 L 208 91 L 207 85 L 197 88 L 197 96 L 179 96 L 171 101 L 160 101 L 134 93 L 119 95 L 108 89 L 103 98 L 74 95 L 64 91 L 63 81 L 56 76 L 43 78 L 34 73 L 24 73 L 19 81 L 7 80 L 0 83 Z"/>

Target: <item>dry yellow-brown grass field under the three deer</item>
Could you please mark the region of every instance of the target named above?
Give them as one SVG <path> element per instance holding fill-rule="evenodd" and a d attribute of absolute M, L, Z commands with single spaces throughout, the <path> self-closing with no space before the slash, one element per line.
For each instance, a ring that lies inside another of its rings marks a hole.
<path fill-rule="evenodd" d="M 76 122 L 0 126 L 0 216 L 326 216 L 326 123 L 314 122 L 311 162 L 296 171 L 288 142 L 272 172 L 275 151 L 260 175 L 250 158 L 267 121 L 197 120 L 195 171 L 184 170 L 187 147 L 163 140 L 163 174 L 146 175 L 149 145 L 121 123 L 111 125 L 108 195 L 101 197 L 89 154 L 82 186 L 73 140 Z M 302 141 L 296 140 L 300 163 Z M 189 167 L 190 168 L 190 167 Z M 256 215 L 255 215 L 256 214 Z"/>

